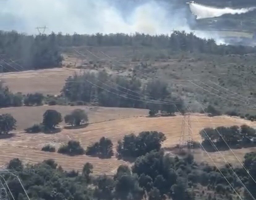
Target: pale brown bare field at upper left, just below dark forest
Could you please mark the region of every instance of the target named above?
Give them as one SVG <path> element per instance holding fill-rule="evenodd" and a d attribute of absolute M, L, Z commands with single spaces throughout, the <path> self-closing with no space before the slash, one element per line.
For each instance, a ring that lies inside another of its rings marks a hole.
<path fill-rule="evenodd" d="M 9 89 L 23 94 L 39 92 L 42 94 L 59 94 L 66 78 L 79 72 L 73 68 L 53 68 L 29 70 L 1 74 L 1 80 Z"/>

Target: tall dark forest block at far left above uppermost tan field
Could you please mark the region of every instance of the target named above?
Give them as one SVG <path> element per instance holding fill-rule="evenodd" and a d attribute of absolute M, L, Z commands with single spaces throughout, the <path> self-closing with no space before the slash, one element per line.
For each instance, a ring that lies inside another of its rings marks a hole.
<path fill-rule="evenodd" d="M 63 59 L 55 34 L 0 31 L 0 54 L 3 72 L 59 67 Z"/>

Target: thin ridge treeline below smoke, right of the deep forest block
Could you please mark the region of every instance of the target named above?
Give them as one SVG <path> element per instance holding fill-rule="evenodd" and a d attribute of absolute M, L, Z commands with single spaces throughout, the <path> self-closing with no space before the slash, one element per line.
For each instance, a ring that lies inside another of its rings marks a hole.
<path fill-rule="evenodd" d="M 73 34 L 57 35 L 52 33 L 48 37 L 54 38 L 58 46 L 151 46 L 169 48 L 172 51 L 190 51 L 211 54 L 246 54 L 255 52 L 253 47 L 237 47 L 231 45 L 216 45 L 213 39 L 203 39 L 194 33 L 174 31 L 171 35 L 148 34 Z"/>

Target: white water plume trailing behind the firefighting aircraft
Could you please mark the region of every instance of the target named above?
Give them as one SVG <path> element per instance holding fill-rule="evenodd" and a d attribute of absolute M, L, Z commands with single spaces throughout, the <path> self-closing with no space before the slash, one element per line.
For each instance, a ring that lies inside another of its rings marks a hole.
<path fill-rule="evenodd" d="M 214 8 L 197 3 L 189 3 L 191 12 L 197 16 L 197 19 L 219 17 L 224 14 L 243 14 L 253 11 L 256 7 L 232 9 L 232 8 Z"/>

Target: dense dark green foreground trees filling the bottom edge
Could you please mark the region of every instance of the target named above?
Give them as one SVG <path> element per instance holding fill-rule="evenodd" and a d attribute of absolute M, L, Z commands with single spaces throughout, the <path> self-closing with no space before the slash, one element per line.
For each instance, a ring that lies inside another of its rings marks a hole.
<path fill-rule="evenodd" d="M 245 155 L 245 164 L 256 177 L 256 153 Z M 192 155 L 184 158 L 171 157 L 163 151 L 151 151 L 136 159 L 130 168 L 126 165 L 118 167 L 113 177 L 107 175 L 94 176 L 93 166 L 85 163 L 82 173 L 64 171 L 53 160 L 45 160 L 35 165 L 23 166 L 15 158 L 8 164 L 21 179 L 31 199 L 79 199 L 79 200 L 112 200 L 112 199 L 216 199 L 230 200 L 236 194 L 215 167 L 198 164 Z M 228 178 L 232 187 L 242 194 L 242 186 L 233 178 L 232 171 L 223 167 L 223 175 Z M 235 169 L 241 180 L 248 180 L 246 186 L 255 197 L 255 182 L 243 169 Z M 26 199 L 19 181 L 8 173 L 1 173 L 12 191 L 15 199 Z"/>

